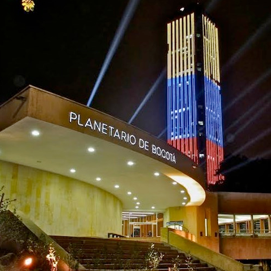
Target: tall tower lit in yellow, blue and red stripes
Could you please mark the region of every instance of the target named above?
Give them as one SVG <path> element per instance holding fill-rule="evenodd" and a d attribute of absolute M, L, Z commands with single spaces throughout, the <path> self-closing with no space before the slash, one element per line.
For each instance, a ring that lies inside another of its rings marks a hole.
<path fill-rule="evenodd" d="M 184 11 L 185 12 L 185 11 Z M 167 142 L 223 180 L 218 29 L 194 10 L 167 24 Z"/>

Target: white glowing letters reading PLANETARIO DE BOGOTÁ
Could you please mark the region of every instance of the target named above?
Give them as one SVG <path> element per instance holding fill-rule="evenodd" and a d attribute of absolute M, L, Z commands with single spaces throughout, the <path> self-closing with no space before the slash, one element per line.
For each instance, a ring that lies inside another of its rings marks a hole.
<path fill-rule="evenodd" d="M 159 146 L 151 144 L 145 139 L 137 138 L 135 135 L 130 134 L 126 131 L 117 129 L 116 127 L 111 126 L 107 123 L 94 120 L 91 118 L 82 120 L 81 115 L 75 112 L 69 112 L 69 122 L 70 123 L 76 122 L 76 124 L 78 126 L 81 126 L 82 128 L 91 129 L 92 131 L 96 131 L 106 136 L 118 139 L 122 142 L 126 142 L 129 145 L 135 145 L 140 149 L 149 151 L 152 154 L 155 154 L 167 161 L 170 161 L 176 164 L 175 153 L 171 153 Z"/>

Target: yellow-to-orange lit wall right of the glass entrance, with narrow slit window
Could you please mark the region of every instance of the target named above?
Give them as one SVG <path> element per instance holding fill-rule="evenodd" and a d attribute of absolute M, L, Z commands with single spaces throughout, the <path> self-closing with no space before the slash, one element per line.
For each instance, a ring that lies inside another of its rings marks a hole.
<path fill-rule="evenodd" d="M 208 236 L 205 236 L 205 218 L 207 218 Z M 198 244 L 219 252 L 216 193 L 206 192 L 206 199 L 201 206 L 167 208 L 165 223 L 178 220 L 182 220 L 183 226 L 195 235 Z"/>

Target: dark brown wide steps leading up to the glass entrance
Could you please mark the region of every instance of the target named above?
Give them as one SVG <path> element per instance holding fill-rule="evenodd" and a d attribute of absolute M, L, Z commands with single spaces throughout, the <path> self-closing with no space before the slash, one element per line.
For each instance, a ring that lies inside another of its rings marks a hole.
<path fill-rule="evenodd" d="M 114 238 L 89 238 L 89 237 L 68 237 L 51 236 L 62 248 L 68 249 L 70 244 L 81 250 L 80 263 L 86 270 L 138 270 L 144 268 L 145 254 L 150 248 L 150 242 L 120 240 Z M 172 268 L 173 259 L 179 255 L 182 263 L 179 265 L 180 271 L 190 271 L 185 263 L 185 254 L 179 253 L 175 249 L 163 243 L 154 243 L 154 249 L 164 254 L 159 263 L 160 271 Z M 214 267 L 209 267 L 207 263 L 199 260 L 192 260 L 193 270 L 213 271 Z"/>

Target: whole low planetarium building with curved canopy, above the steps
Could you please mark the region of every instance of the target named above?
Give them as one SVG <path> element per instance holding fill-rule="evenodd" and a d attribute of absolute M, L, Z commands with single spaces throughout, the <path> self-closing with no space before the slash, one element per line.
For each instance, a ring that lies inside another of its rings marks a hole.
<path fill-rule="evenodd" d="M 0 106 L 0 185 L 17 199 L 11 210 L 45 234 L 151 231 L 163 241 L 174 230 L 189 241 L 184 248 L 198 245 L 212 259 L 271 259 L 271 195 L 205 191 L 194 163 L 128 123 L 33 86 Z"/>

